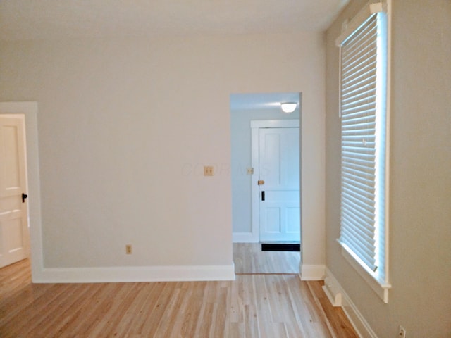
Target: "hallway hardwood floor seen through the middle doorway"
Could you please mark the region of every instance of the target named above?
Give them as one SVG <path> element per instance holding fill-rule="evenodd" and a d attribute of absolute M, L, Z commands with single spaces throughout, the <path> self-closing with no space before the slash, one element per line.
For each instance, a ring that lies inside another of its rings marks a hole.
<path fill-rule="evenodd" d="M 299 252 L 261 251 L 260 243 L 233 243 L 235 273 L 299 273 Z"/>

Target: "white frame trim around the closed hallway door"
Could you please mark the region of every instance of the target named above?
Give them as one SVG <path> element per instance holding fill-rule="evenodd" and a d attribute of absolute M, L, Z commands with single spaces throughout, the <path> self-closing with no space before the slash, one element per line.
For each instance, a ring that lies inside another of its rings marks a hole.
<path fill-rule="evenodd" d="M 252 174 L 252 228 L 251 228 L 251 242 L 260 242 L 260 208 L 259 208 L 259 186 L 256 184 L 259 180 L 259 129 L 260 128 L 287 128 L 287 127 L 299 127 L 300 133 L 300 121 L 299 120 L 252 120 L 251 121 L 251 156 L 252 156 L 252 168 L 254 173 Z M 299 134 L 299 139 L 301 135 Z M 299 150 L 300 150 L 299 146 Z M 299 165 L 300 168 L 300 165 Z M 255 183 L 255 184 L 254 184 Z M 299 191 L 301 191 L 301 173 L 299 172 Z M 301 206 L 299 205 L 299 208 Z M 301 225 L 299 224 L 299 227 Z M 302 227 L 301 227 L 302 231 Z"/>

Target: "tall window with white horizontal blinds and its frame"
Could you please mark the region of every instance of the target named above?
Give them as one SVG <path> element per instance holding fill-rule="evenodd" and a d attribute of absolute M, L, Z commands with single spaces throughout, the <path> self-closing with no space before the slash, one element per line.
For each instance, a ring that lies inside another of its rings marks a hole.
<path fill-rule="evenodd" d="M 340 46 L 341 205 L 345 257 L 388 302 L 386 193 L 387 19 L 364 8 Z M 376 282 L 376 284 L 375 284 Z"/>

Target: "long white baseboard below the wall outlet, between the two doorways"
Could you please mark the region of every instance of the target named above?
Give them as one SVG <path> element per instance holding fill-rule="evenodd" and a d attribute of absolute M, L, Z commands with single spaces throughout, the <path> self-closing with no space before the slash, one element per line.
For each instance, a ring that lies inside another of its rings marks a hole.
<path fill-rule="evenodd" d="M 173 282 L 235 280 L 235 265 L 44 268 L 34 283 Z"/>

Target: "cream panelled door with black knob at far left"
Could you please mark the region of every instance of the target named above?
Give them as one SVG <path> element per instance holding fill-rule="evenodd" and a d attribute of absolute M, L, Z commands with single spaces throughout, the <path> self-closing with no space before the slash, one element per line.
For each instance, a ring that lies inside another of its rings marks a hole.
<path fill-rule="evenodd" d="M 0 115 L 0 268 L 29 255 L 25 116 Z"/>

